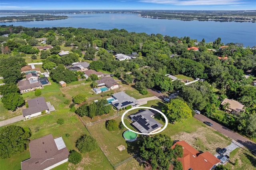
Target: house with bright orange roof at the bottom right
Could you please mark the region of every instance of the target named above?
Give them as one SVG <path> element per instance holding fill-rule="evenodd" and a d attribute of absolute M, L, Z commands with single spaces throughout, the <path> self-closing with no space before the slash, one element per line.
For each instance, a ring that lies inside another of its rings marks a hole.
<path fill-rule="evenodd" d="M 178 158 L 182 163 L 183 170 L 212 170 L 221 162 L 210 152 L 199 152 L 184 140 L 176 142 L 172 148 L 176 144 L 183 148 L 183 157 Z"/>

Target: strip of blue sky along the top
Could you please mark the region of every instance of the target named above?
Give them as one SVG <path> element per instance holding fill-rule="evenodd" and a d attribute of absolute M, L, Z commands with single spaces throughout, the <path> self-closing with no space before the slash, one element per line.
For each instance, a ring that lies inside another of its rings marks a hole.
<path fill-rule="evenodd" d="M 1 0 L 0 10 L 256 10 L 256 0 Z"/>

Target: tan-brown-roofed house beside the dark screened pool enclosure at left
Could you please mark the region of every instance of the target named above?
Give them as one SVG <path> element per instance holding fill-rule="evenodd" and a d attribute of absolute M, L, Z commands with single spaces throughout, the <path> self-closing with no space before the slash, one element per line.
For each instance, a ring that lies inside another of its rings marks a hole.
<path fill-rule="evenodd" d="M 28 91 L 34 91 L 36 89 L 43 89 L 42 83 L 38 79 L 28 79 L 18 81 L 18 88 L 20 93 L 26 93 Z"/>

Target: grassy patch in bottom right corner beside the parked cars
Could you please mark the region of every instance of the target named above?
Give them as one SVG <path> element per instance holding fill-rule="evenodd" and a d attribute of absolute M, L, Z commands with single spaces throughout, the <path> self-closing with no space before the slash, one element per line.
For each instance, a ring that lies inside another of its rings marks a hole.
<path fill-rule="evenodd" d="M 234 162 L 238 159 L 238 164 Z M 230 162 L 225 165 L 230 170 L 256 170 L 256 157 L 247 149 L 236 148 L 230 152 Z"/>

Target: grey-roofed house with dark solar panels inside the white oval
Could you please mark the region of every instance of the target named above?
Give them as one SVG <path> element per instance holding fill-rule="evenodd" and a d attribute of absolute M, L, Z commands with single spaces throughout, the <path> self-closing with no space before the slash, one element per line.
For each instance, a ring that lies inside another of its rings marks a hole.
<path fill-rule="evenodd" d="M 160 130 L 163 125 L 156 121 L 153 115 L 154 113 L 148 109 L 130 115 L 133 121 L 132 126 L 141 133 L 153 133 Z"/>

